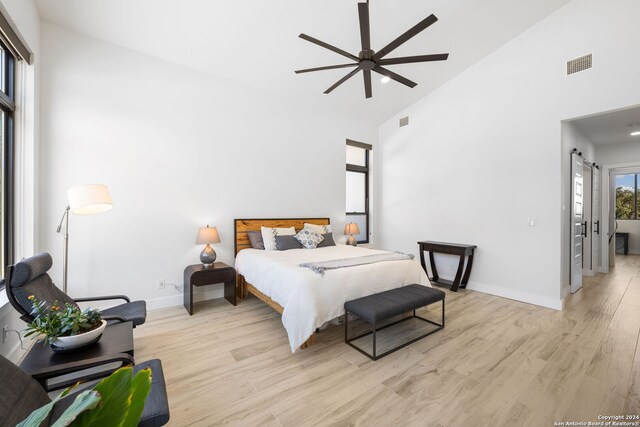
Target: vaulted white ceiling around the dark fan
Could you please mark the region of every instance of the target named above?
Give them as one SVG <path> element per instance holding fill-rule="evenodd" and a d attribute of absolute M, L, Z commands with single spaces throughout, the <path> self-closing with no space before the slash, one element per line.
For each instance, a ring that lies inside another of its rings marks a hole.
<path fill-rule="evenodd" d="M 295 75 L 345 58 L 298 38 L 304 32 L 355 55 L 357 0 L 37 0 L 44 21 L 258 90 L 382 123 L 490 54 L 569 0 L 370 0 L 378 50 L 433 13 L 439 21 L 389 57 L 450 53 L 446 62 L 393 65 L 418 83 L 383 84 L 365 99 L 361 73 L 329 95 L 350 69 Z"/>

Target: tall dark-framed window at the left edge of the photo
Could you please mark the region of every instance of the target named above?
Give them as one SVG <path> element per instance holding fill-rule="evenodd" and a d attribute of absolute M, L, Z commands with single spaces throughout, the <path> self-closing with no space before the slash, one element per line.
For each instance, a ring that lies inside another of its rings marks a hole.
<path fill-rule="evenodd" d="M 15 58 L 0 41 L 0 277 L 13 262 L 13 116 Z"/>

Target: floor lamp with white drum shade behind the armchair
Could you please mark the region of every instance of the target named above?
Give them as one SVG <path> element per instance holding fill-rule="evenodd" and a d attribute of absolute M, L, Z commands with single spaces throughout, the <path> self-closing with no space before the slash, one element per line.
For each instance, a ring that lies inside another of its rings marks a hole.
<path fill-rule="evenodd" d="M 69 205 L 62 214 L 56 232 L 60 233 L 64 223 L 64 257 L 62 273 L 62 290 L 67 293 L 67 270 L 69 267 L 69 211 L 76 215 L 94 215 L 113 208 L 109 189 L 102 184 L 86 184 L 71 187 L 67 191 Z"/>

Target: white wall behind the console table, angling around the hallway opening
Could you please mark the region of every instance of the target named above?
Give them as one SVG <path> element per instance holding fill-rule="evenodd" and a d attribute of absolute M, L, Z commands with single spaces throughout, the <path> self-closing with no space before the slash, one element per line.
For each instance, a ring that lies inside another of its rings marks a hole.
<path fill-rule="evenodd" d="M 475 243 L 470 288 L 560 308 L 561 122 L 640 102 L 639 13 L 574 0 L 381 126 L 378 242 Z"/>

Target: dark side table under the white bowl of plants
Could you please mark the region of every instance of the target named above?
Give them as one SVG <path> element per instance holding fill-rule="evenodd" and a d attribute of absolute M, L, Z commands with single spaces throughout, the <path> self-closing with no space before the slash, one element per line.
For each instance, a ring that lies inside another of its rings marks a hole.
<path fill-rule="evenodd" d="M 65 353 L 55 353 L 42 343 L 34 343 L 20 362 L 20 367 L 36 379 L 46 391 L 66 388 L 78 381 L 106 377 L 117 368 L 107 367 L 114 362 L 120 366 L 133 365 L 133 324 L 116 323 L 106 327 L 95 344 Z M 80 376 L 67 375 L 88 368 L 103 366 L 107 370 L 92 370 Z M 55 378 L 62 377 L 59 381 Z"/>

